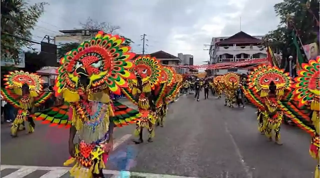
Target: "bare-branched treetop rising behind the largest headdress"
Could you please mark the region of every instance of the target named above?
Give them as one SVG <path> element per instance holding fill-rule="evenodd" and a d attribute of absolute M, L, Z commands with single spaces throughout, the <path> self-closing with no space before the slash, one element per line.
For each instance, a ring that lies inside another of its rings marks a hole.
<path fill-rule="evenodd" d="M 80 26 L 84 30 L 102 30 L 105 33 L 110 33 L 110 34 L 114 33 L 116 30 L 120 29 L 120 26 L 114 26 L 114 25 L 111 25 L 111 23 L 108 23 L 108 22 L 95 21 L 90 17 L 88 17 L 85 22 L 80 22 Z M 94 38 L 95 35 L 96 35 L 95 33 L 90 34 L 91 38 Z M 123 44 L 124 46 L 130 46 L 131 43 L 134 43 L 130 38 L 126 38 L 124 36 L 121 36 L 121 37 L 125 38 L 125 42 Z"/>

